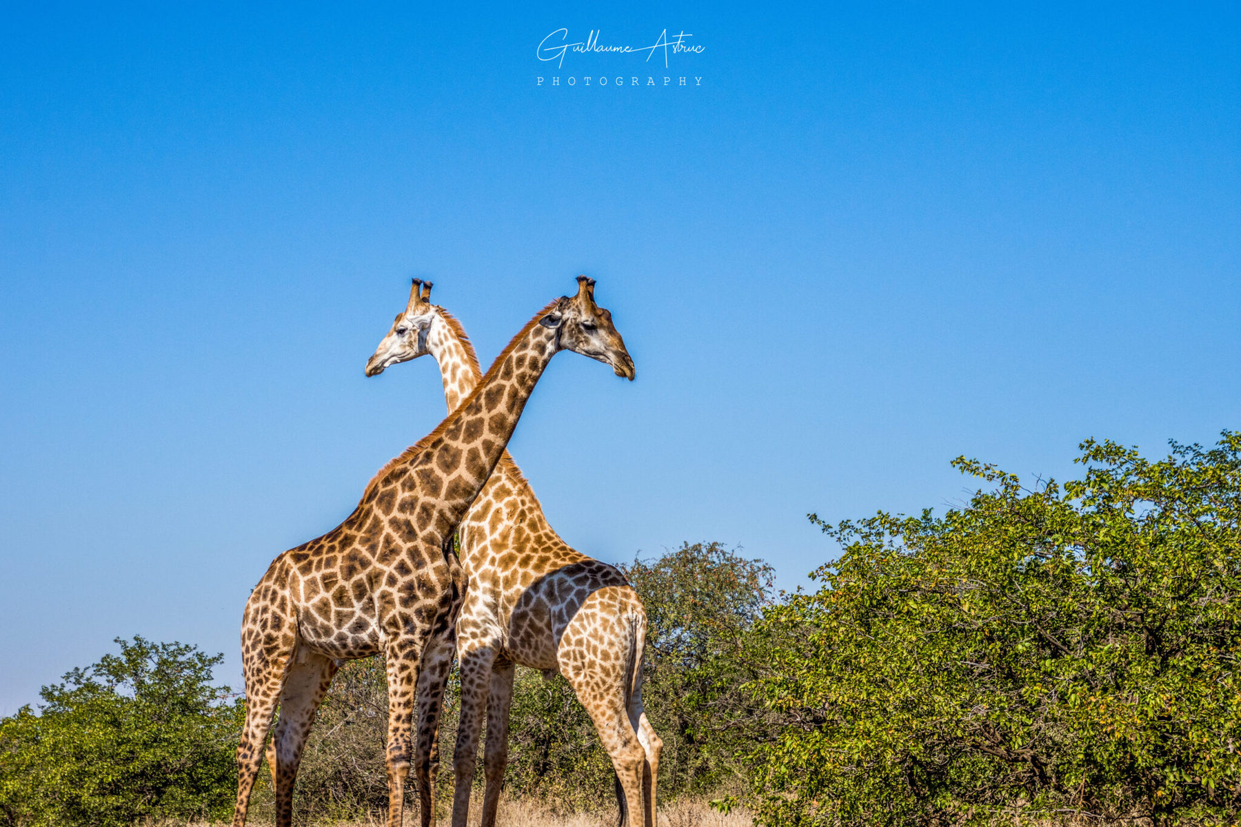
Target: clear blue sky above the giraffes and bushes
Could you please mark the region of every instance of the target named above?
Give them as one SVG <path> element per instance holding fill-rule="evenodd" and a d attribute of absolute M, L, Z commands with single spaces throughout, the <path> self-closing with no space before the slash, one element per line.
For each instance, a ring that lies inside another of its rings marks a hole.
<path fill-rule="evenodd" d="M 240 683 L 268 562 L 443 415 L 362 376 L 412 275 L 484 362 L 598 279 L 638 381 L 561 355 L 510 449 L 607 560 L 794 586 L 807 512 L 942 510 L 958 454 L 1241 427 L 1236 4 L 182 5 L 0 27 L 0 713 L 118 635 Z"/>

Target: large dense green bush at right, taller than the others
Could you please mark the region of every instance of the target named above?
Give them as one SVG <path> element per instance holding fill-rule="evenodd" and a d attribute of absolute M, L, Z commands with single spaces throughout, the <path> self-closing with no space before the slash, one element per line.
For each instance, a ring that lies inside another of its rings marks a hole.
<path fill-rule="evenodd" d="M 812 515 L 844 554 L 756 630 L 764 823 L 1241 807 L 1241 435 L 1078 461 L 1061 491 L 958 459 L 997 487 L 938 518 Z"/>

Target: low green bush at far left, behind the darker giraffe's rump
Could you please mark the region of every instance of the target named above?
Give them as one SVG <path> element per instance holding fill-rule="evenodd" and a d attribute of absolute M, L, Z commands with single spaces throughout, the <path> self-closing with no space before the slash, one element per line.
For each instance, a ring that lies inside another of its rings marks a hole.
<path fill-rule="evenodd" d="M 11 826 L 128 825 L 221 818 L 232 811 L 233 750 L 244 720 L 222 656 L 124 641 L 43 687 L 40 712 L 0 720 L 0 821 Z"/>

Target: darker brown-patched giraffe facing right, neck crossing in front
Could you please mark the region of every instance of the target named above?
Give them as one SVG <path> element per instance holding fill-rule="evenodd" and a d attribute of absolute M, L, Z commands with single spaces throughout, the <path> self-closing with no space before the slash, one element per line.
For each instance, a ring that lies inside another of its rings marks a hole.
<path fill-rule="evenodd" d="M 407 315 L 405 324 L 422 335 L 431 317 Z M 624 340 L 593 301 L 581 290 L 553 300 L 514 336 L 460 407 L 375 475 L 340 526 L 277 557 L 254 586 L 241 632 L 247 707 L 235 827 L 246 823 L 277 707 L 267 759 L 276 823 L 287 827 L 305 738 L 333 676 L 346 660 L 381 652 L 388 684 L 387 823 L 400 827 L 419 660 L 428 642 L 449 639 L 464 588 L 453 536 L 561 350 L 634 377 Z M 427 825 L 429 795 L 422 801 Z"/>

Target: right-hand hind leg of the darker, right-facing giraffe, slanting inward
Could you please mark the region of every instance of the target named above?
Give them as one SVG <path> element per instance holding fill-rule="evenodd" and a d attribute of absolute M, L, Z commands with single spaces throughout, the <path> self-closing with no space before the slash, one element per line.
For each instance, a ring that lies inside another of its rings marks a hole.
<path fill-rule="evenodd" d="M 293 823 L 293 784 L 302 763 L 302 750 L 336 668 L 330 657 L 304 648 L 297 652 L 288 668 L 280 692 L 280 717 L 267 748 L 267 765 L 276 792 L 276 827 L 290 827 Z"/>

